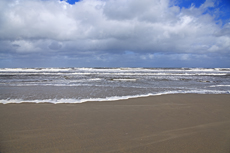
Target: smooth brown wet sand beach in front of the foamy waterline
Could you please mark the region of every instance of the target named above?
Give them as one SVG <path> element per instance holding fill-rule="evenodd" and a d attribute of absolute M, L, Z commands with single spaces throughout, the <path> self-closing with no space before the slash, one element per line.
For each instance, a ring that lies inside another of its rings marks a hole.
<path fill-rule="evenodd" d="M 0 104 L 0 153 L 229 153 L 230 95 Z"/>

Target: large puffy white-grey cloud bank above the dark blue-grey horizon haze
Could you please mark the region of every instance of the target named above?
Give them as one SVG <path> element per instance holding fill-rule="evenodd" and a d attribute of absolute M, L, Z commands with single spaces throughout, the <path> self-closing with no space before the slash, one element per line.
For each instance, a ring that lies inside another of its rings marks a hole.
<path fill-rule="evenodd" d="M 180 9 L 169 0 L 1 0 L 1 52 L 60 55 L 230 53 L 229 25 L 206 13 L 215 1 Z M 100 58 L 99 58 L 100 59 Z M 101 58 L 102 59 L 102 58 Z"/>

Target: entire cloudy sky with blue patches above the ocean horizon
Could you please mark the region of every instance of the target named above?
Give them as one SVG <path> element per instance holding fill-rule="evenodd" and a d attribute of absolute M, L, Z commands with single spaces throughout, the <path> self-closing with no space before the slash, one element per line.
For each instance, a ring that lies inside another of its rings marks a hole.
<path fill-rule="evenodd" d="M 0 67 L 230 67 L 229 0 L 1 0 Z"/>

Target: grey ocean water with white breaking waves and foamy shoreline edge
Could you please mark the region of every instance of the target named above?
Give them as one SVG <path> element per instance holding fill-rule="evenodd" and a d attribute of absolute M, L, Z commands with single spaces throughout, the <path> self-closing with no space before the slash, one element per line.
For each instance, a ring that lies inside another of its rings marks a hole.
<path fill-rule="evenodd" d="M 81 103 L 230 94 L 230 68 L 2 68 L 0 103 Z"/>

